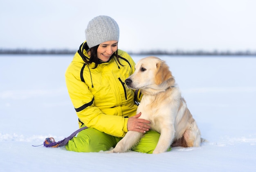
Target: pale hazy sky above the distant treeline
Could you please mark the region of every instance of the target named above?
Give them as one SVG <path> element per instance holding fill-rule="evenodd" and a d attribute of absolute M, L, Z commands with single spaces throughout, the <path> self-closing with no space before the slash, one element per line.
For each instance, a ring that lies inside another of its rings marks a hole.
<path fill-rule="evenodd" d="M 254 0 L 0 0 L 0 48 L 72 49 L 97 15 L 119 24 L 119 48 L 256 51 Z"/>

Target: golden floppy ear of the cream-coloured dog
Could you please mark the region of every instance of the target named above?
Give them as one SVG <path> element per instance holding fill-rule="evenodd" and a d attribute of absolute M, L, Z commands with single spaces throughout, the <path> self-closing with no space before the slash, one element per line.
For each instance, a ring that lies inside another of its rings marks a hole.
<path fill-rule="evenodd" d="M 173 77 L 168 65 L 166 65 L 164 61 L 160 61 L 156 65 L 157 70 L 155 74 L 155 83 L 157 85 L 162 84 L 164 81 L 167 81 L 168 79 Z"/>

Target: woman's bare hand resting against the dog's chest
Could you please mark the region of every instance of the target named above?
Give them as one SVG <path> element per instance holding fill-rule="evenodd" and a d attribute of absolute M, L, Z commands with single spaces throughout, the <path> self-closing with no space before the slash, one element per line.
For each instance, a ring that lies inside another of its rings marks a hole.
<path fill-rule="evenodd" d="M 128 119 L 128 122 L 127 122 L 128 131 L 137 131 L 140 133 L 146 133 L 150 129 L 150 126 L 148 125 L 150 124 L 150 122 L 148 120 L 139 119 L 140 115 L 141 115 L 141 112 Z"/>

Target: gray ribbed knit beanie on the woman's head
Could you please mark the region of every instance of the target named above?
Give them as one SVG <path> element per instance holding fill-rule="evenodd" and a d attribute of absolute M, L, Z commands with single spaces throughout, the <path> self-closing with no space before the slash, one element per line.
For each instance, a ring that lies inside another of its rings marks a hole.
<path fill-rule="evenodd" d="M 94 17 L 85 29 L 85 38 L 89 48 L 106 41 L 119 41 L 118 24 L 106 15 Z"/>

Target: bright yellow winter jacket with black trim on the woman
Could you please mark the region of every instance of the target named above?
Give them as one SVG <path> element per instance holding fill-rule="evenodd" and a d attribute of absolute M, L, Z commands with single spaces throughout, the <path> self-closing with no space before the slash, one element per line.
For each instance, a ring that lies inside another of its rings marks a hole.
<path fill-rule="evenodd" d="M 85 45 L 86 42 L 80 46 L 65 73 L 67 90 L 80 127 L 85 124 L 109 135 L 124 137 L 128 117 L 136 115 L 137 110 L 134 90 L 124 83 L 135 71 L 135 62 L 128 53 L 118 50 L 123 66 L 113 56 L 93 69 L 95 63 L 88 65 L 83 61 L 90 58 Z"/>

